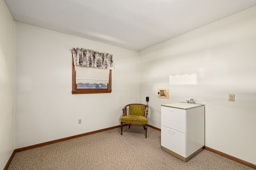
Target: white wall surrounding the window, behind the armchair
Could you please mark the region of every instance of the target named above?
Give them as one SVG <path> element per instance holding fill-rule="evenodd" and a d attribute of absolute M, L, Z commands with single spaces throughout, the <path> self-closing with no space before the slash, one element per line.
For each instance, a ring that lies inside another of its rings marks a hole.
<path fill-rule="evenodd" d="M 113 54 L 112 93 L 71 94 L 72 47 Z M 16 148 L 120 125 L 122 107 L 138 102 L 138 51 L 19 22 L 15 48 Z"/>

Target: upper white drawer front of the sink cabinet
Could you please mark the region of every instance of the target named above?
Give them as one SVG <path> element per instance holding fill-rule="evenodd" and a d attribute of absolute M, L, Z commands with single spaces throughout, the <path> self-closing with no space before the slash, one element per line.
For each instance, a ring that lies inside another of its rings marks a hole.
<path fill-rule="evenodd" d="M 161 125 L 186 133 L 186 110 L 161 106 Z"/>

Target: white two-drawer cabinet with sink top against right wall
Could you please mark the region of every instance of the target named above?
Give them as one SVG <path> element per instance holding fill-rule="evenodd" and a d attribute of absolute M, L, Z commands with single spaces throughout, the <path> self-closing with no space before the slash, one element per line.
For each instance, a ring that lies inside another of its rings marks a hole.
<path fill-rule="evenodd" d="M 204 146 L 204 105 L 161 105 L 161 146 L 185 162 L 200 152 Z"/>

